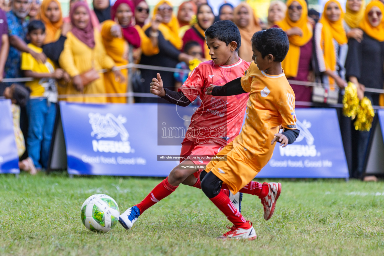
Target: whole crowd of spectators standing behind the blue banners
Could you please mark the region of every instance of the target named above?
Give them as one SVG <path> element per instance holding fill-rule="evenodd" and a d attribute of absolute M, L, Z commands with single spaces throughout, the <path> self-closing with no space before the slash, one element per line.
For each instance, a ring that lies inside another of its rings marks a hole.
<path fill-rule="evenodd" d="M 338 1 L 329 0 L 321 15 L 308 10 L 305 0 L 274 0 L 265 21 L 257 16 L 258 7 L 247 2 L 224 3 L 218 16 L 207 0 L 186 1 L 178 8 L 161 0 L 152 11 L 145 0 L 117 0 L 113 5 L 93 0 L 92 6 L 70 0 L 69 16 L 63 17 L 58 0 L 10 0 L 0 5 L 0 80 L 34 78 L 17 87 L 1 83 L 0 95 L 7 91 L 4 96 L 12 99 L 10 93 L 20 92 L 20 86 L 30 91 L 30 100 L 18 104 L 21 111 L 15 110 L 20 112 L 15 116 L 26 138 L 20 159 L 30 157 L 38 169 L 46 168 L 58 95 L 71 102 L 126 103 L 126 97 L 116 93 L 127 92 L 128 79 L 134 92 L 149 93 L 157 70 L 134 69 L 129 78 L 127 69 L 118 67 L 126 65 L 130 55 L 137 64 L 182 69 L 189 69 L 194 59 L 209 60 L 204 31 L 217 20 L 232 20 L 238 26 L 239 56 L 245 61 L 252 61 L 253 33 L 279 27 L 290 41 L 282 63 L 288 79 L 321 82 L 329 90 L 339 90 L 340 96 L 351 81 L 359 99 L 367 96 L 373 105 L 384 103 L 379 94 L 365 92 L 384 86 L 384 5 L 379 0 L 368 5 L 364 0 L 347 0 L 345 13 Z M 99 69 L 107 72 L 98 73 Z M 177 90 L 188 74 L 163 71 L 161 76 Z M 312 101 L 312 87 L 295 82 L 291 86 L 296 101 Z M 135 102 L 157 99 L 136 97 Z M 356 132 L 349 119 L 339 116 L 348 166 L 351 175 L 359 177 L 369 133 Z M 28 169 L 30 162 L 22 166 Z"/>

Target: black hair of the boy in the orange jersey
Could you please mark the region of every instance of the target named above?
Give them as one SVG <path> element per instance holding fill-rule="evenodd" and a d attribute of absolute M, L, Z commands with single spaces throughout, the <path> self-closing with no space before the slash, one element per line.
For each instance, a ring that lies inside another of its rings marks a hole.
<path fill-rule="evenodd" d="M 258 31 L 253 34 L 251 42 L 263 58 L 271 54 L 276 62 L 283 61 L 289 50 L 288 36 L 281 28 Z"/>

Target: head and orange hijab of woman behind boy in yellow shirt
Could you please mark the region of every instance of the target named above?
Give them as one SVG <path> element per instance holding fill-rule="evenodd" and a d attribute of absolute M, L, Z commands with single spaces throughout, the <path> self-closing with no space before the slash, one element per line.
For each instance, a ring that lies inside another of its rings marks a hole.
<path fill-rule="evenodd" d="M 61 26 L 63 26 L 62 16 L 61 5 L 58 0 L 44 0 L 41 3 L 40 17 L 45 24 L 45 44 L 59 39 Z"/>

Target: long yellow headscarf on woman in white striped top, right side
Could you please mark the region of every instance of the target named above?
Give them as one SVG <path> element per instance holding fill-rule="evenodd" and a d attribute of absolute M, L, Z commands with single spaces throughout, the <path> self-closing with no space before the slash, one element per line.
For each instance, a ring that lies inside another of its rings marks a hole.
<path fill-rule="evenodd" d="M 341 11 L 339 20 L 330 21 L 325 14 L 329 3 L 336 3 Z M 320 23 L 323 25 L 321 30 L 321 46 L 324 52 L 325 67 L 327 70 L 335 71 L 336 69 L 336 55 L 333 47 L 333 38 L 339 43 L 339 45 L 346 44 L 348 42 L 347 35 L 343 27 L 343 9 L 336 0 L 329 0 L 324 6 L 323 14 L 321 15 Z M 333 84 L 333 79 L 329 78 L 329 83 Z"/>

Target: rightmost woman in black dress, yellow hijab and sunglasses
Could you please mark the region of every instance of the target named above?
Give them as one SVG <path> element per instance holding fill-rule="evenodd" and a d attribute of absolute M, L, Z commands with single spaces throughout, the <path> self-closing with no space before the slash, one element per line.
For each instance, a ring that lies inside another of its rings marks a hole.
<path fill-rule="evenodd" d="M 358 97 L 368 97 L 372 105 L 379 105 L 379 94 L 364 92 L 364 88 L 383 89 L 384 85 L 384 5 L 372 0 L 364 11 L 359 27 L 364 32 L 361 42 L 354 38 L 348 40 L 348 56 L 346 61 L 346 77 L 356 84 Z M 355 135 L 356 136 L 356 135 Z M 358 131 L 356 147 L 357 168 L 354 178 L 359 178 L 364 170 L 365 152 L 368 145 L 369 132 Z"/>

